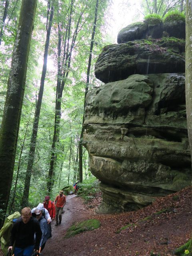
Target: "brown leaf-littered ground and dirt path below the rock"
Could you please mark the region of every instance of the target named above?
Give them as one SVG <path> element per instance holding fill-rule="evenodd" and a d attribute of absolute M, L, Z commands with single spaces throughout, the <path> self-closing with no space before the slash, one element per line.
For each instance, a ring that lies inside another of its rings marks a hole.
<path fill-rule="evenodd" d="M 52 238 L 42 256 L 172 256 L 192 235 L 191 187 L 157 198 L 136 212 L 96 214 L 100 202 L 101 194 L 88 204 L 75 195 L 67 196 L 62 223 L 55 226 L 53 221 Z M 100 221 L 100 228 L 64 238 L 72 224 L 93 218 Z M 130 227 L 117 233 L 128 224 Z"/>

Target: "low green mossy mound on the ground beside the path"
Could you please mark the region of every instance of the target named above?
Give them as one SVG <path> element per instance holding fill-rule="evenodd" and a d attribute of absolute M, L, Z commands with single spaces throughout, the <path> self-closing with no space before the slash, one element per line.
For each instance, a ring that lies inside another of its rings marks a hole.
<path fill-rule="evenodd" d="M 85 231 L 94 230 L 100 226 L 100 222 L 96 219 L 84 220 L 82 222 L 73 224 L 70 228 L 68 228 L 64 238 L 70 238 L 71 236 L 75 236 Z"/>

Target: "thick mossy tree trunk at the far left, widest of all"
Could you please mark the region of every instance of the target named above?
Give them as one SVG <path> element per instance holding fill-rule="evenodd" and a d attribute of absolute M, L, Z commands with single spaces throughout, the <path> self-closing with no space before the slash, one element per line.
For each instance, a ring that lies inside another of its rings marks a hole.
<path fill-rule="evenodd" d="M 0 130 L 0 208 L 7 209 L 37 0 L 22 0 Z"/>

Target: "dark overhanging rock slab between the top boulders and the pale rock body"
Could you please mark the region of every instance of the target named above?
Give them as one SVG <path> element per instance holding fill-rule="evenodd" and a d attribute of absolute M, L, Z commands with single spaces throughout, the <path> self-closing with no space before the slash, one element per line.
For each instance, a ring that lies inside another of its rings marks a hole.
<path fill-rule="evenodd" d="M 95 65 L 95 76 L 104 83 L 118 81 L 132 74 L 162 74 L 185 71 L 185 58 L 180 42 L 172 47 L 160 45 L 164 40 L 148 44 L 144 40 L 106 46 Z M 168 44 L 167 44 L 168 45 Z"/>

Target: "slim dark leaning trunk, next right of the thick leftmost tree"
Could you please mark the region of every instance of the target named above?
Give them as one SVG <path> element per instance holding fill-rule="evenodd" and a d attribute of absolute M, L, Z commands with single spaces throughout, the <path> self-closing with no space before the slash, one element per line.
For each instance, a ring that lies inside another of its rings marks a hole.
<path fill-rule="evenodd" d="M 40 116 L 40 111 L 41 111 L 41 104 L 42 104 L 42 98 L 43 98 L 43 92 L 44 92 L 44 82 L 45 82 L 45 76 L 46 76 L 46 71 L 47 71 L 48 48 L 49 48 L 53 14 L 54 14 L 54 8 L 52 7 L 51 13 L 50 13 L 50 19 L 49 19 L 49 26 L 48 26 L 48 30 L 47 30 L 47 36 L 46 36 L 45 49 L 44 49 L 44 62 L 43 62 L 43 69 L 42 69 L 42 75 L 41 75 L 41 82 L 40 82 L 38 100 L 37 100 L 36 109 L 35 109 L 32 136 L 31 136 L 31 141 L 30 141 L 28 166 L 27 166 L 27 171 L 26 171 L 24 192 L 23 192 L 23 197 L 22 197 L 22 206 L 23 207 L 28 205 L 29 188 L 30 188 L 30 180 L 31 180 L 32 168 L 33 168 L 34 157 L 35 157 L 39 116 Z"/>

